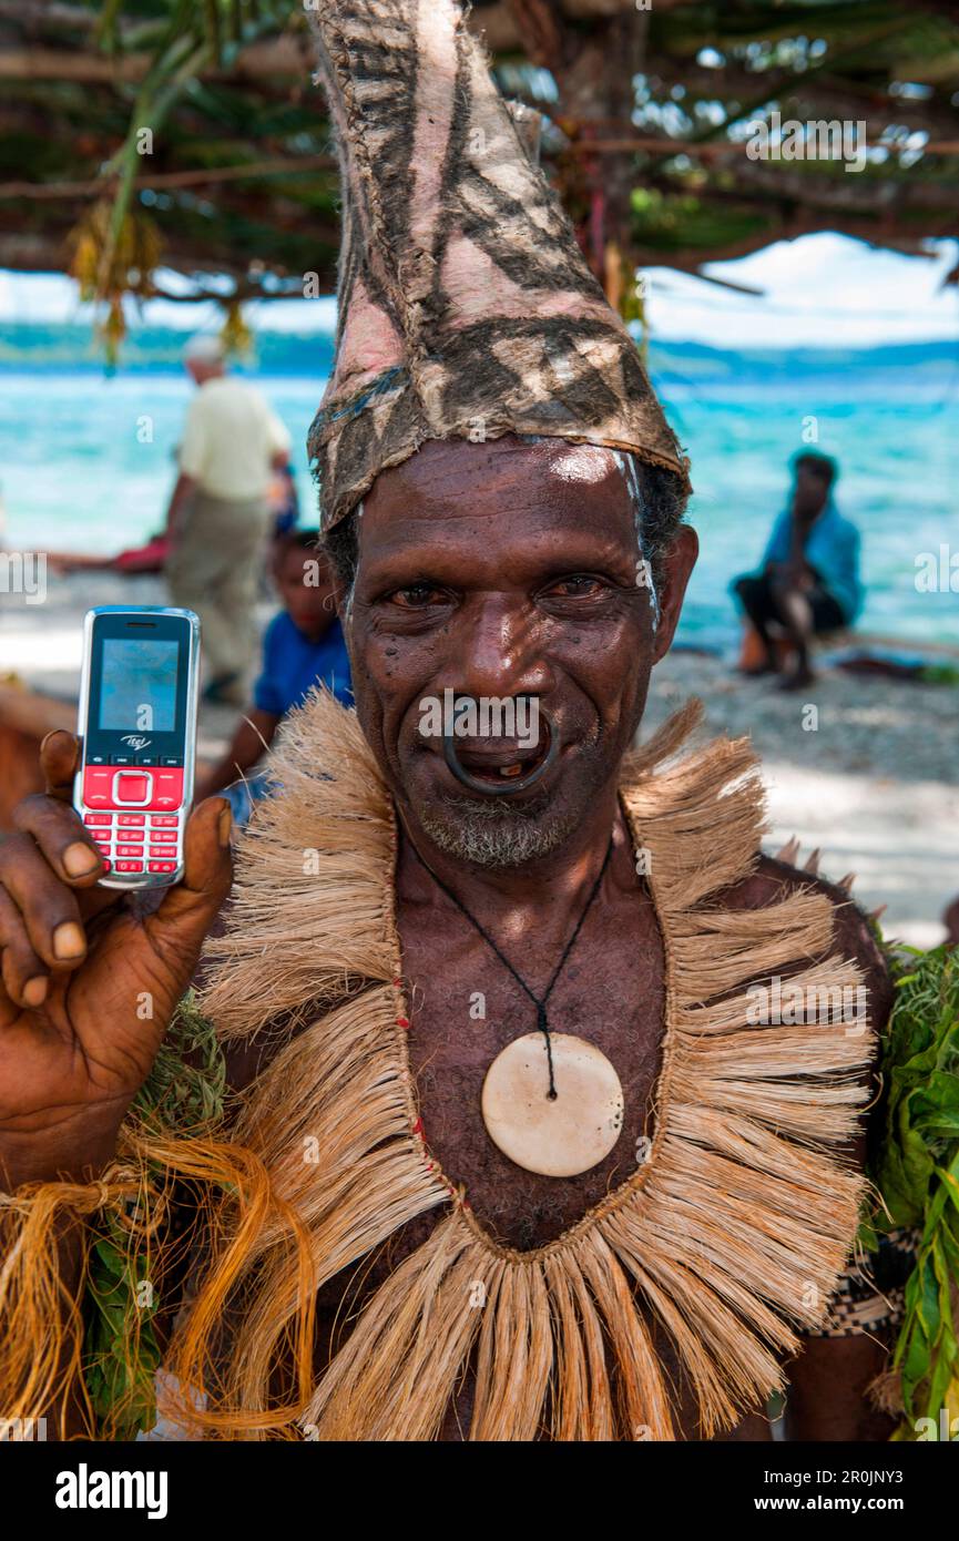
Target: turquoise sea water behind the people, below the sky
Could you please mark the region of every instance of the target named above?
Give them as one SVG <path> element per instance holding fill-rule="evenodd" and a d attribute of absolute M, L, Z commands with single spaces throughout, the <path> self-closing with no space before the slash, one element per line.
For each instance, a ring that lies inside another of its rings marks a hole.
<path fill-rule="evenodd" d="M 322 379 L 262 376 L 294 442 L 301 505 L 313 522 L 305 436 Z M 755 566 L 782 507 L 786 462 L 806 438 L 842 465 L 837 502 L 863 536 L 860 627 L 959 641 L 959 595 L 916 587 L 916 558 L 959 550 L 959 371 L 755 370 L 743 381 L 658 379 L 692 459 L 702 555 L 681 636 L 732 646 L 728 584 Z M 179 374 L 0 373 L 3 542 L 25 550 L 113 552 L 162 521 L 190 384 Z M 811 422 L 816 419 L 816 424 Z M 2 601 L 0 601 L 2 603 Z"/>

